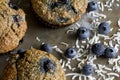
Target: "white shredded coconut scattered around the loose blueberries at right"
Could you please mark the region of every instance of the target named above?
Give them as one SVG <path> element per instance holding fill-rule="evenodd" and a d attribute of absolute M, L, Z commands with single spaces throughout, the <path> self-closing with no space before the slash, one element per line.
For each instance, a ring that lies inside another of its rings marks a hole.
<path fill-rule="evenodd" d="M 86 41 L 80 41 L 79 39 L 76 39 L 75 45 L 73 46 L 77 50 L 77 56 L 74 57 L 71 60 L 76 61 L 77 68 L 82 69 L 82 65 L 84 64 L 91 64 L 94 68 L 95 77 L 92 75 L 85 76 L 82 73 L 75 73 L 74 71 L 77 69 L 75 65 L 72 65 L 72 61 L 63 62 L 64 67 L 72 71 L 73 73 L 66 73 L 66 76 L 71 76 L 72 80 L 75 80 L 76 78 L 79 78 L 79 80 L 114 80 L 116 77 L 119 77 L 120 72 L 120 56 L 113 59 L 108 59 L 108 65 L 103 65 L 99 63 L 95 63 L 95 60 L 97 59 L 97 56 L 92 54 L 91 52 L 91 46 L 95 43 L 104 43 L 106 47 L 114 47 L 116 52 L 119 52 L 120 48 L 120 28 L 116 30 L 116 32 L 113 32 L 115 29 L 111 27 L 111 36 L 110 35 L 102 35 L 98 34 L 97 29 L 101 21 L 106 20 L 109 18 L 106 14 L 104 14 L 104 11 L 107 9 L 108 11 L 113 10 L 113 4 L 115 3 L 117 6 L 119 6 L 118 3 L 119 0 L 106 0 L 104 2 L 98 1 L 98 8 L 101 10 L 101 12 L 94 12 L 91 11 L 89 13 L 86 13 L 83 17 L 83 20 L 81 20 L 80 23 L 75 23 L 74 26 L 70 26 L 67 29 L 67 34 L 69 32 L 76 31 L 80 26 L 85 26 L 88 29 L 91 30 L 92 34 L 89 38 L 87 38 Z M 91 22 L 87 22 L 87 18 L 91 20 Z M 107 23 L 111 24 L 111 20 L 106 20 Z M 118 20 L 118 26 L 120 27 L 120 19 Z M 102 39 L 102 40 L 101 40 Z M 65 45 L 65 44 L 64 44 Z M 68 45 L 69 46 L 69 45 Z M 57 50 L 58 52 L 61 52 L 61 50 Z M 109 66 L 109 67 L 108 67 Z"/>

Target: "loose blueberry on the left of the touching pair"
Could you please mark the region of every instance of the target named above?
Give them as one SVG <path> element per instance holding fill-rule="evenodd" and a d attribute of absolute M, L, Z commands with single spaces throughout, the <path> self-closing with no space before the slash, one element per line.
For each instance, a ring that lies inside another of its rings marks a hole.
<path fill-rule="evenodd" d="M 96 43 L 92 46 L 92 52 L 97 56 L 101 56 L 104 54 L 105 47 L 101 43 Z"/>

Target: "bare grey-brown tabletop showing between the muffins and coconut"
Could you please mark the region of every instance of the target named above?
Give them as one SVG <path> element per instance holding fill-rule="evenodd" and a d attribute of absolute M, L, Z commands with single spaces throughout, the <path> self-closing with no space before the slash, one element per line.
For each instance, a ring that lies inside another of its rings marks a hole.
<path fill-rule="evenodd" d="M 61 45 L 60 42 L 67 42 L 69 43 L 69 46 L 72 46 L 75 44 L 75 36 L 70 34 L 66 35 L 66 28 L 59 28 L 59 29 L 50 29 L 46 28 L 44 25 L 42 25 L 39 20 L 34 15 L 34 12 L 32 12 L 30 7 L 30 1 L 29 0 L 13 0 L 20 8 L 22 8 L 26 13 L 26 20 L 28 25 L 27 33 L 24 37 L 24 42 L 17 48 L 24 48 L 24 49 L 30 49 L 31 46 L 34 48 L 39 49 L 39 46 L 42 42 L 50 43 L 51 45 L 58 45 L 62 50 L 65 50 L 66 47 Z M 105 12 L 109 19 L 112 20 L 113 27 L 116 28 L 117 26 L 117 20 L 116 18 L 120 17 L 120 10 L 115 9 L 114 13 L 107 13 Z M 116 28 L 117 29 L 117 28 Z M 40 38 L 40 42 L 36 40 L 36 37 Z M 16 49 L 16 50 L 17 50 Z M 53 52 L 53 54 L 61 58 L 61 55 L 57 52 Z M 0 55 L 0 75 L 2 74 L 2 70 L 4 69 L 5 65 L 7 64 L 9 54 L 3 54 Z M 106 59 L 98 59 L 96 62 L 102 63 Z M 68 80 L 71 80 L 68 78 Z M 120 80 L 119 78 L 116 80 Z"/>

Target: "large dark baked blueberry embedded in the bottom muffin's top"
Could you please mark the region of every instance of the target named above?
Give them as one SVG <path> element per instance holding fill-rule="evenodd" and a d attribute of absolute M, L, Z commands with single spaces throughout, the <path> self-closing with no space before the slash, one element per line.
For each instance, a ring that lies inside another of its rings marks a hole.
<path fill-rule="evenodd" d="M 43 73 L 54 72 L 56 70 L 56 64 L 54 61 L 44 58 L 40 60 L 40 71 Z"/>

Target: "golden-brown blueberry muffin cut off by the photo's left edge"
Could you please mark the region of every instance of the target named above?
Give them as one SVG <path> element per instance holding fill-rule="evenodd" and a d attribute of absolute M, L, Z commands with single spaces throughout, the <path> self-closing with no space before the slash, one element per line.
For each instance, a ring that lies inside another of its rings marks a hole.
<path fill-rule="evenodd" d="M 0 0 L 0 54 L 15 49 L 26 29 L 24 11 L 8 0 Z"/>

